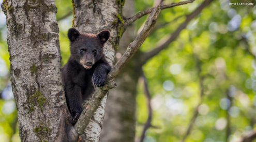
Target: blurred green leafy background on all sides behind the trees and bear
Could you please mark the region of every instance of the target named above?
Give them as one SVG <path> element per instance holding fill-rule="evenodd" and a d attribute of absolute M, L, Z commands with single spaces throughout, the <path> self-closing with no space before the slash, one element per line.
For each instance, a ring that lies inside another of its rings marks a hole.
<path fill-rule="evenodd" d="M 171 4 L 179 1 L 163 1 Z M 202 0 L 160 12 L 142 52 L 159 46 Z M 254 3 L 230 5 L 229 3 Z M 0 0 L 2 3 L 2 0 Z M 62 66 L 68 60 L 70 0 L 56 0 Z M 134 0 L 134 12 L 154 0 Z M 125 15 L 125 14 L 124 14 Z M 134 23 L 137 34 L 146 16 Z M 143 65 L 149 96 L 140 77 L 136 96 L 136 138 L 152 120 L 144 141 L 237 141 L 256 127 L 256 2 L 216 0 L 189 22 L 166 50 Z M 10 86 L 6 16 L 0 10 L 0 142 L 20 141 L 17 109 Z M 127 44 L 128 45 L 128 44 Z M 121 53 L 117 53 L 117 59 Z M 191 127 L 189 127 L 191 125 Z M 189 131 L 189 134 L 186 133 Z"/>

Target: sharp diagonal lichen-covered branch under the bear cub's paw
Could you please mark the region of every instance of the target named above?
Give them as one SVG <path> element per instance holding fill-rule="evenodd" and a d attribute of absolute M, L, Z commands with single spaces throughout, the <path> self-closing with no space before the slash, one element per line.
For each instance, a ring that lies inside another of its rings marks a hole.
<path fill-rule="evenodd" d="M 89 101 L 86 108 L 82 112 L 78 122 L 74 125 L 74 129 L 77 131 L 79 135 L 84 133 L 84 130 L 89 123 L 89 120 L 92 118 L 94 112 L 99 107 L 100 102 L 102 101 L 108 90 L 116 86 L 114 78 L 128 64 L 131 57 L 134 55 L 134 53 L 139 49 L 141 44 L 147 38 L 147 36 L 149 35 L 150 31 L 152 30 L 156 23 L 156 19 L 159 15 L 159 12 L 160 6 L 155 7 L 152 13 L 150 14 L 148 20 L 146 21 L 145 26 L 141 33 L 135 38 L 135 40 L 132 43 L 129 44 L 125 54 L 121 57 L 121 59 L 117 62 L 117 64 L 112 68 L 112 70 L 108 74 L 107 84 L 103 87 L 95 88 L 95 92 L 93 94 L 92 99 Z"/>

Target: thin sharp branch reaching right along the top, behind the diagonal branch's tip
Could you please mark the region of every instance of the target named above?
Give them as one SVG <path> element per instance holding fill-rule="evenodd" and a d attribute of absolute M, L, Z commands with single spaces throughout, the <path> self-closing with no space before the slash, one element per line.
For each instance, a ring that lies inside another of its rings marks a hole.
<path fill-rule="evenodd" d="M 169 4 L 169 5 L 163 5 L 160 8 L 161 8 L 161 10 L 162 9 L 167 9 L 167 8 L 172 8 L 172 7 L 175 7 L 175 6 L 186 5 L 188 3 L 193 3 L 194 1 L 195 0 L 189 0 L 189 1 L 183 1 L 183 2 L 178 2 L 178 3 L 172 3 L 172 4 Z M 144 15 L 151 13 L 153 11 L 153 9 L 154 8 L 149 8 L 147 10 L 140 11 L 140 12 L 136 13 L 135 15 L 133 15 L 132 17 L 127 19 L 127 21 L 126 21 L 127 25 L 132 24 L 134 21 L 136 21 L 137 19 L 140 19 Z"/>

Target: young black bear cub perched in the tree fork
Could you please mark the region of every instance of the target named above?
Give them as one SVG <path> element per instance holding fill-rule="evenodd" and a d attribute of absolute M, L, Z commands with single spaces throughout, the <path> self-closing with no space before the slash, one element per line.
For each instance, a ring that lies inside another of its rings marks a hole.
<path fill-rule="evenodd" d="M 109 30 L 96 35 L 80 34 L 75 28 L 68 30 L 70 57 L 62 69 L 62 81 L 72 124 L 83 111 L 82 101 L 93 93 L 94 87 L 107 81 L 111 67 L 103 55 L 103 46 L 109 37 Z"/>

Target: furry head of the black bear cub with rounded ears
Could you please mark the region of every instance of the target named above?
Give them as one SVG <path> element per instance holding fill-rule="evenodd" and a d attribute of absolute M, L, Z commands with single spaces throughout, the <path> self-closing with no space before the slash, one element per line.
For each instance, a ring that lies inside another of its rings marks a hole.
<path fill-rule="evenodd" d="M 85 69 L 91 69 L 103 56 L 103 46 L 109 38 L 109 30 L 102 30 L 94 35 L 80 34 L 77 29 L 70 28 L 68 30 L 70 56 Z"/>

